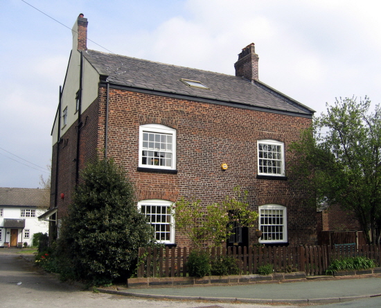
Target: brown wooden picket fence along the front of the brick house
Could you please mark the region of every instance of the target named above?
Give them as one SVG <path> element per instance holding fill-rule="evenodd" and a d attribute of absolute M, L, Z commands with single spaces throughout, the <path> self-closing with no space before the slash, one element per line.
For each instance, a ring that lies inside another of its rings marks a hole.
<path fill-rule="evenodd" d="M 230 255 L 237 259 L 242 275 L 258 273 L 258 267 L 272 264 L 274 271 L 304 271 L 306 275 L 324 275 L 330 262 L 342 257 L 364 256 L 381 262 L 380 245 L 276 246 L 206 248 L 212 257 Z M 186 277 L 186 260 L 191 249 L 139 248 L 137 277 Z"/>

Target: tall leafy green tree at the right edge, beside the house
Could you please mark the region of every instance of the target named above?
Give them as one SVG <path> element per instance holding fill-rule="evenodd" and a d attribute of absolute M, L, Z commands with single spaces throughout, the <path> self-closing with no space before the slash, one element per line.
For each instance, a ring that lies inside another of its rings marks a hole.
<path fill-rule="evenodd" d="M 368 243 L 379 243 L 381 110 L 376 105 L 370 112 L 370 105 L 367 97 L 327 104 L 326 114 L 314 119 L 301 142 L 292 144 L 292 151 L 300 154 L 299 171 L 316 189 L 317 203 L 351 210 Z"/>

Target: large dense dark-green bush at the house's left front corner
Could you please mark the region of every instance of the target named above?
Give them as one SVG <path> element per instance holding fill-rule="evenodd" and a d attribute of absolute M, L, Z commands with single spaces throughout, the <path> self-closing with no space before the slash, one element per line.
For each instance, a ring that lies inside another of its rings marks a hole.
<path fill-rule="evenodd" d="M 152 226 L 138 211 L 134 187 L 121 167 L 112 159 L 89 164 L 57 242 L 61 272 L 69 269 L 67 275 L 94 284 L 125 279 L 136 266 L 139 247 L 153 242 Z"/>

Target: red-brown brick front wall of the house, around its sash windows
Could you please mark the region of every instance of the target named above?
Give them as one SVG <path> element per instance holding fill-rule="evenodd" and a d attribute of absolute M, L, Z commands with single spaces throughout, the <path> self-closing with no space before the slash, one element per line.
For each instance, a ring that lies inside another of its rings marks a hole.
<path fill-rule="evenodd" d="M 98 148 L 105 145 L 105 89 L 100 89 Z M 167 123 L 177 129 L 177 174 L 137 171 L 139 125 Z M 221 202 L 233 187 L 249 191 L 254 210 L 277 203 L 287 207 L 288 240 L 292 245 L 316 241 L 316 209 L 303 205 L 308 192 L 292 176 L 296 161 L 288 151 L 311 119 L 258 112 L 224 105 L 172 99 L 163 96 L 110 89 L 107 153 L 127 169 L 138 187 L 139 198 L 178 196 Z M 258 139 L 285 142 L 285 173 L 288 180 L 259 180 Z M 229 168 L 222 171 L 222 163 Z M 254 243 L 251 230 L 250 243 Z M 176 234 L 179 246 L 188 241 Z"/>

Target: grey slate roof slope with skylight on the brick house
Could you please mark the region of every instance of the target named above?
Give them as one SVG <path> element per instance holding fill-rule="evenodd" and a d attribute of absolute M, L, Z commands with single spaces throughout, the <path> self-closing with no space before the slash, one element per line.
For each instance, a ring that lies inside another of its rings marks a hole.
<path fill-rule="evenodd" d="M 249 105 L 265 110 L 280 110 L 304 116 L 311 116 L 314 112 L 259 81 L 251 83 L 241 77 L 100 51 L 87 50 L 84 55 L 100 75 L 107 76 L 109 83 L 116 85 L 190 96 L 190 99 L 193 97 Z M 181 78 L 200 81 L 210 89 L 188 87 L 181 82 Z"/>

